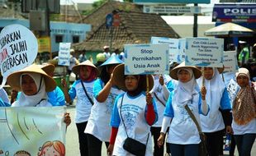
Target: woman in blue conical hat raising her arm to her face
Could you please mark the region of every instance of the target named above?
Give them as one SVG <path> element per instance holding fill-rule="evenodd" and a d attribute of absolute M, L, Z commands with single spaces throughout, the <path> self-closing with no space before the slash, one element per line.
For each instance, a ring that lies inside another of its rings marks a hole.
<path fill-rule="evenodd" d="M 122 61 L 116 56 L 107 59 L 100 67 L 99 79 L 94 82 L 94 105 L 84 131 L 88 134 L 88 154 L 90 156 L 102 155 L 102 141 L 106 146 L 109 145 L 111 110 L 116 96 L 122 93 L 121 89 L 116 88 L 113 84 L 111 74 L 114 68 L 121 63 Z"/>

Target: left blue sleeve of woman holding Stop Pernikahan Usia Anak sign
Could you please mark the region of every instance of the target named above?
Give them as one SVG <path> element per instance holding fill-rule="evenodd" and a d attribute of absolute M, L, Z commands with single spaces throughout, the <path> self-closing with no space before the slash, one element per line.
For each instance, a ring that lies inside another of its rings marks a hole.
<path fill-rule="evenodd" d="M 118 99 L 122 98 L 124 96 L 124 94 L 119 94 L 116 99 L 115 99 L 115 103 L 114 103 L 114 107 L 112 109 L 111 112 L 111 122 L 110 122 L 110 126 L 114 126 L 116 128 L 119 127 L 120 122 L 121 122 L 121 118 L 118 112 L 118 108 L 117 108 L 117 101 Z"/>

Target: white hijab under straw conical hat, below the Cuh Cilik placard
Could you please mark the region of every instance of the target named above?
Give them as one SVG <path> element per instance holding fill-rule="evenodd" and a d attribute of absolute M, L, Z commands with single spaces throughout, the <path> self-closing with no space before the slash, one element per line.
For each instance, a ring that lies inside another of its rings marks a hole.
<path fill-rule="evenodd" d="M 178 86 L 175 90 L 174 100 L 176 103 L 185 106 L 186 104 L 192 103 L 193 95 L 197 94 L 197 81 L 193 74 L 192 69 L 190 68 L 181 68 L 178 70 L 179 73 L 181 70 L 188 71 L 190 74 L 190 80 L 186 83 L 181 82 L 178 80 Z"/>

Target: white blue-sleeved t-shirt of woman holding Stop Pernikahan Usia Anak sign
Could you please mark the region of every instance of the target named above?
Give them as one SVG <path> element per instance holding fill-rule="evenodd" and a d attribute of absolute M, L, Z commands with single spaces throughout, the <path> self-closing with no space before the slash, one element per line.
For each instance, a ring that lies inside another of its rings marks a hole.
<path fill-rule="evenodd" d="M 153 105 L 154 112 L 156 114 L 156 119 L 154 122 L 157 122 L 158 113 L 154 99 Z M 130 138 L 138 140 L 143 144 L 146 144 L 149 135 L 145 155 L 153 155 L 152 140 L 150 140 L 150 126 L 146 122 L 146 112 L 147 107 L 145 92 L 142 92 L 135 97 L 131 97 L 127 93 L 120 94 L 116 98 L 114 108 L 111 113 L 111 126 L 118 127 L 113 155 L 131 155 L 125 149 L 123 149 L 124 141 L 127 138 L 126 131 Z"/>

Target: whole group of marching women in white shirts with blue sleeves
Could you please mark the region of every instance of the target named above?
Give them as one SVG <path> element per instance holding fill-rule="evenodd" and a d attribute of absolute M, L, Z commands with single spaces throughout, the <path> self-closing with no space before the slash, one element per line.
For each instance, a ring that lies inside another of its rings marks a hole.
<path fill-rule="evenodd" d="M 169 75 L 125 75 L 123 62 L 112 55 L 97 67 L 88 60 L 73 66 L 78 80 L 70 89 L 62 80 L 64 94 L 52 78 L 54 69 L 31 65 L 12 73 L 7 84 L 20 93 L 12 95 L 12 104 L 2 96 L 0 104 L 49 107 L 76 98 L 74 122 L 82 156 L 100 156 L 102 142 L 109 155 L 163 156 L 166 142 L 172 156 L 197 156 L 201 131 L 210 156 L 223 153 L 225 133 L 233 136 L 240 156 L 250 155 L 256 136 L 256 87 L 246 68 L 235 73 L 230 89 L 223 68 L 183 62 L 173 65 Z M 64 122 L 71 122 L 68 112 Z"/>

